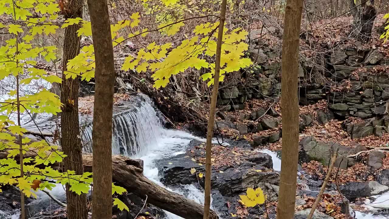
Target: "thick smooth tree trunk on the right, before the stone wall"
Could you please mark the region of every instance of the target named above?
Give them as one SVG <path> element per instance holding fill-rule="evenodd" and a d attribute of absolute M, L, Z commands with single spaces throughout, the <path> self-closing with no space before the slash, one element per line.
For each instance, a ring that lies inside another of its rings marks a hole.
<path fill-rule="evenodd" d="M 303 0 L 287 0 L 282 39 L 282 159 L 277 219 L 293 219 L 298 162 L 298 48 Z"/>

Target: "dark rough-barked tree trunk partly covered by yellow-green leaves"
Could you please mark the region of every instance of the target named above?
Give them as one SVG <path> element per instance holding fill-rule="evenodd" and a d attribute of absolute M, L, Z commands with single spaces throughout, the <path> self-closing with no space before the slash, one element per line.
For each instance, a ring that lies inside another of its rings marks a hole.
<path fill-rule="evenodd" d="M 65 18 L 82 18 L 82 0 L 69 2 Z M 67 69 L 68 60 L 73 59 L 80 52 L 80 37 L 77 36 L 77 30 L 80 27 L 80 25 L 71 25 L 65 29 L 63 71 Z M 65 74 L 62 74 L 61 147 L 64 154 L 67 155 L 63 163 L 66 170 L 72 170 L 81 175 L 84 173 L 84 169 L 82 168 L 82 145 L 78 120 L 78 89 L 79 78 L 66 79 Z M 67 185 L 66 198 L 68 219 L 88 218 L 86 194 L 77 195 L 70 191 Z"/>

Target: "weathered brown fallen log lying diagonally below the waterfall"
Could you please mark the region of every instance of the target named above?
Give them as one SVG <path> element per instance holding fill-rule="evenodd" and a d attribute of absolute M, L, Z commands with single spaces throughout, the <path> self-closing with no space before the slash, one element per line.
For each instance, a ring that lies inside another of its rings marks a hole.
<path fill-rule="evenodd" d="M 0 151 L 0 159 L 7 158 L 6 151 Z M 33 152 L 27 152 L 25 157 L 35 156 Z M 92 172 L 92 154 L 83 154 L 82 163 L 84 171 Z M 63 165 L 54 164 L 53 168 L 61 170 Z M 176 214 L 186 219 L 203 219 L 204 206 L 189 200 L 184 196 L 168 191 L 143 175 L 143 161 L 131 159 L 123 155 L 112 156 L 112 180 L 119 183 L 127 191 L 141 198 L 147 195 L 147 202 L 163 210 Z M 210 219 L 217 219 L 214 211 L 210 213 Z"/>

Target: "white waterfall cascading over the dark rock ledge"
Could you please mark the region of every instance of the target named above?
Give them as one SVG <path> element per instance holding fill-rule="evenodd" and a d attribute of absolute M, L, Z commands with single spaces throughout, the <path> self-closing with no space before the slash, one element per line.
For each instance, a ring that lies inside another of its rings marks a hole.
<path fill-rule="evenodd" d="M 144 94 L 135 95 L 135 102 L 114 108 L 112 121 L 112 154 L 133 156 L 160 139 L 165 129 L 159 111 Z M 140 101 L 139 101 L 140 100 Z M 81 128 L 83 151 L 92 152 L 92 124 Z"/>

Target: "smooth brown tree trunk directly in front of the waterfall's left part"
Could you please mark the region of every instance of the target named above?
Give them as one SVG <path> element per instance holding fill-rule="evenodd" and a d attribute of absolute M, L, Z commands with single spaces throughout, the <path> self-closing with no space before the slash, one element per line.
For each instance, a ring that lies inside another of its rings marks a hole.
<path fill-rule="evenodd" d="M 95 47 L 92 218 L 112 218 L 112 109 L 115 65 L 107 0 L 88 0 Z M 132 179 L 131 179 L 132 180 Z"/>

